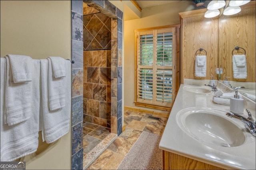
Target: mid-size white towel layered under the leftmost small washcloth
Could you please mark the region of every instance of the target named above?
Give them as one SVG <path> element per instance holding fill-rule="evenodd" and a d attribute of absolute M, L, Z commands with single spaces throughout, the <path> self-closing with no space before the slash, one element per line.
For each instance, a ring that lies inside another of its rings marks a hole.
<path fill-rule="evenodd" d="M 32 114 L 32 81 L 14 83 L 10 59 L 6 59 L 5 123 L 15 125 L 30 118 Z M 32 61 L 33 62 L 33 61 Z M 23 63 L 24 64 L 24 63 Z M 30 68 L 34 66 L 31 66 Z M 38 77 L 37 77 L 38 78 Z M 39 84 L 38 84 L 39 86 Z"/>

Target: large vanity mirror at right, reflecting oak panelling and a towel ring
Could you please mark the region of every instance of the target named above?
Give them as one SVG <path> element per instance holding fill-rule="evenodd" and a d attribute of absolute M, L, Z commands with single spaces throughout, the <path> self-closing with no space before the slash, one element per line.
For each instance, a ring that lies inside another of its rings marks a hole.
<path fill-rule="evenodd" d="M 230 81 L 231 86 L 244 86 L 245 89 L 238 91 L 254 101 L 256 86 L 255 4 L 255 1 L 251 1 L 240 6 L 242 10 L 238 14 L 232 16 L 220 15 L 218 20 L 218 67 L 223 69 L 219 81 L 222 82 L 226 76 L 229 77 L 228 81 Z M 240 49 L 236 50 L 236 46 Z M 232 51 L 234 55 L 246 55 L 246 78 L 234 78 Z"/>

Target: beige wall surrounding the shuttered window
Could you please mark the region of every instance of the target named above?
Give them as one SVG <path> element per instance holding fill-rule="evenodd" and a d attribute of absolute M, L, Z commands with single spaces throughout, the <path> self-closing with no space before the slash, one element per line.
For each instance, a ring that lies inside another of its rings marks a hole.
<path fill-rule="evenodd" d="M 135 94 L 135 29 L 179 24 L 179 12 L 193 10 L 192 1 L 178 1 L 160 6 L 144 8 L 140 19 L 124 21 L 124 106 L 135 107 L 160 113 L 166 111 L 137 107 Z"/>

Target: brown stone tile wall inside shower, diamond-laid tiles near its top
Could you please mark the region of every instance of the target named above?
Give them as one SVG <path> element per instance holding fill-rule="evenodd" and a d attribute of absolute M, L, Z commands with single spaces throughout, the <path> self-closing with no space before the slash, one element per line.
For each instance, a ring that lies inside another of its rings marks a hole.
<path fill-rule="evenodd" d="M 110 128 L 111 18 L 84 6 L 84 122 Z"/>

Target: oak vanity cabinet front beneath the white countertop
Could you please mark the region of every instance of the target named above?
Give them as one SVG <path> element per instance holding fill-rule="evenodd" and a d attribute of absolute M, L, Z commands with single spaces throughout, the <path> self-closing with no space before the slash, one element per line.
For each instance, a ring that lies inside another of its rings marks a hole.
<path fill-rule="evenodd" d="M 194 159 L 163 150 L 163 170 L 224 170 Z"/>

